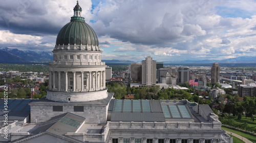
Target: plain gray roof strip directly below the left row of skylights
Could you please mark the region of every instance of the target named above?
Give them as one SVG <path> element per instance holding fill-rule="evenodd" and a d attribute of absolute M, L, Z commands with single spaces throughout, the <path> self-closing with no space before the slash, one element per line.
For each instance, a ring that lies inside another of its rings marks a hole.
<path fill-rule="evenodd" d="M 111 121 L 165 122 L 163 112 L 113 112 Z"/>

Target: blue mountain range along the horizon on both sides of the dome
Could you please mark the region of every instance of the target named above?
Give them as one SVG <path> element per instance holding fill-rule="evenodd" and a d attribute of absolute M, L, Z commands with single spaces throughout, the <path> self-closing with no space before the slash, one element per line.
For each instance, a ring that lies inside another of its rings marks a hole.
<path fill-rule="evenodd" d="M 51 51 L 23 51 L 13 48 L 0 47 L 0 63 L 48 63 L 53 61 L 53 53 Z M 125 60 L 102 60 L 105 63 L 113 64 L 131 64 L 140 63 L 141 61 L 125 61 Z M 157 61 L 159 62 L 159 61 Z M 240 56 L 238 58 L 225 60 L 177 60 L 163 61 L 164 64 L 206 64 L 206 63 L 256 63 L 256 56 Z"/>

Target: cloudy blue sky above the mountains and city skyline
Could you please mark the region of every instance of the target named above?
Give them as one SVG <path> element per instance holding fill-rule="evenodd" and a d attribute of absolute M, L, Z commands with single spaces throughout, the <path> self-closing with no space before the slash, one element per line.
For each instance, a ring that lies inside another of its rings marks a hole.
<path fill-rule="evenodd" d="M 1 0 L 0 47 L 54 48 L 73 0 Z M 104 60 L 223 60 L 256 56 L 256 1 L 81 0 Z"/>

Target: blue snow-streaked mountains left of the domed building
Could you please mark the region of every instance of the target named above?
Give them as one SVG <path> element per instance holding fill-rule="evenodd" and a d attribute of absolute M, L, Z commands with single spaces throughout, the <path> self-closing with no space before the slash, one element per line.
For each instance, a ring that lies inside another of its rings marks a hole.
<path fill-rule="evenodd" d="M 7 47 L 0 47 L 0 51 L 7 52 L 8 54 L 11 54 L 15 56 L 17 61 L 13 60 L 13 56 L 6 56 L 4 61 L 9 61 L 9 62 L 17 62 L 17 63 L 26 63 L 26 62 L 39 62 L 39 63 L 44 63 L 44 62 L 50 62 L 53 61 L 53 53 L 50 51 L 23 51 L 23 50 L 18 50 L 18 49 L 11 49 Z M 1 59 L 2 56 L 1 56 Z M 2 62 L 1 60 L 0 62 Z M 3 62 L 4 62 L 3 61 Z"/>

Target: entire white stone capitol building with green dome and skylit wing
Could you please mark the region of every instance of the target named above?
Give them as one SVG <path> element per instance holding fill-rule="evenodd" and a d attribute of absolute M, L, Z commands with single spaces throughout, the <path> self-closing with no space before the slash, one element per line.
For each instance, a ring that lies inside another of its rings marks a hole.
<path fill-rule="evenodd" d="M 30 123 L 13 121 L 6 142 L 233 142 L 208 105 L 114 99 L 105 86 L 98 37 L 78 2 L 73 10 L 52 51 L 46 98 L 28 103 Z"/>

